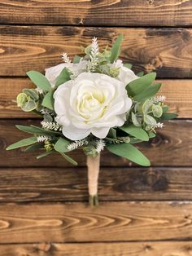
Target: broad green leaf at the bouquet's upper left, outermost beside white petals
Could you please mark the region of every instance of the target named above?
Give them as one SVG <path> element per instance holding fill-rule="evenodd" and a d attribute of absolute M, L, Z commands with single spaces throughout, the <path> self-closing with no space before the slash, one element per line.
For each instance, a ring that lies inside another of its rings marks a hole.
<path fill-rule="evenodd" d="M 51 90 L 50 82 L 46 79 L 45 76 L 43 76 L 43 74 L 32 70 L 28 71 L 27 75 L 36 86 L 41 88 L 41 90 Z"/>

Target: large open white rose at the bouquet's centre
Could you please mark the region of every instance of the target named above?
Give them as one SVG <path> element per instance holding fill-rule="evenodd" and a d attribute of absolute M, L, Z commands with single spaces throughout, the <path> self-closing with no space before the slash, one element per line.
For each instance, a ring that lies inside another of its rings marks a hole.
<path fill-rule="evenodd" d="M 122 126 L 132 105 L 124 83 L 100 73 L 81 73 L 55 90 L 56 121 L 65 137 L 84 139 L 90 133 L 99 139 L 111 127 Z"/>

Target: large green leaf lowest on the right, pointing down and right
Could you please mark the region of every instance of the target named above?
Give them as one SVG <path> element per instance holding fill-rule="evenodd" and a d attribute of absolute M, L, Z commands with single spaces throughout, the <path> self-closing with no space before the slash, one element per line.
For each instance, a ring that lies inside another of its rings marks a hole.
<path fill-rule="evenodd" d="M 109 144 L 107 149 L 117 156 L 124 157 L 141 166 L 150 166 L 150 161 L 137 148 L 129 143 Z"/>

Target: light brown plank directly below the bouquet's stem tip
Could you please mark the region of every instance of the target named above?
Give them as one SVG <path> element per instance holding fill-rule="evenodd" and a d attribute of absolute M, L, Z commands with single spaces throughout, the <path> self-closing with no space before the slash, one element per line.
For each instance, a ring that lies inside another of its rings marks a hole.
<path fill-rule="evenodd" d="M 191 214 L 186 201 L 0 205 L 0 244 L 188 240 Z"/>

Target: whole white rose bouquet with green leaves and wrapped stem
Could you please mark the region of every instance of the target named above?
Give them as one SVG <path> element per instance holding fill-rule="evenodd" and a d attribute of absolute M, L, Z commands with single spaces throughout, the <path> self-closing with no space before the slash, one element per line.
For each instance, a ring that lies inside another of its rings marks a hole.
<path fill-rule="evenodd" d="M 120 34 L 111 48 L 99 51 L 97 38 L 84 49 L 84 56 L 73 60 L 63 54 L 64 63 L 47 68 L 45 76 L 29 71 L 35 89 L 24 89 L 17 96 L 25 112 L 41 115 L 41 126 L 16 126 L 32 134 L 9 146 L 41 150 L 37 158 L 59 153 L 77 165 L 68 152 L 81 148 L 87 156 L 89 203 L 98 204 L 100 152 L 108 151 L 141 166 L 150 161 L 135 143 L 155 137 L 163 120 L 177 117 L 167 113 L 165 97 L 156 95 L 161 84 L 155 73 L 133 73 L 130 64 L 118 59 Z"/>

